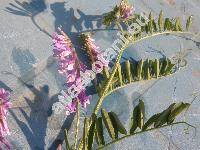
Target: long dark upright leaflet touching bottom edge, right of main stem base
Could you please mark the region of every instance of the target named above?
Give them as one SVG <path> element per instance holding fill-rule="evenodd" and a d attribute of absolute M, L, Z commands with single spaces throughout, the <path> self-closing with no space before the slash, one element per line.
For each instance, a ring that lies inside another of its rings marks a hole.
<path fill-rule="evenodd" d="M 92 145 L 94 142 L 94 133 L 95 133 L 95 122 L 96 122 L 97 116 L 95 114 L 92 114 L 92 124 L 89 128 L 88 132 L 88 150 L 92 149 Z"/>

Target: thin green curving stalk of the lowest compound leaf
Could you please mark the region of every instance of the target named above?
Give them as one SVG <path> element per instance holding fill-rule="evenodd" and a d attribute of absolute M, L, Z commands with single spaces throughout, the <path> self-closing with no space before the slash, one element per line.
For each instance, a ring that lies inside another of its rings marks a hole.
<path fill-rule="evenodd" d="M 196 127 L 190 125 L 190 124 L 187 123 L 187 122 L 183 122 L 183 121 L 181 121 L 181 122 L 175 122 L 175 123 L 172 123 L 172 124 L 170 124 L 170 125 L 164 125 L 164 126 L 161 126 L 161 127 L 158 127 L 158 128 L 151 128 L 151 129 L 147 129 L 147 130 L 145 130 L 145 131 L 139 131 L 139 132 L 136 132 L 136 133 L 133 133 L 133 134 L 130 134 L 130 135 L 123 136 L 123 137 L 121 137 L 121 138 L 119 138 L 119 139 L 113 140 L 113 141 L 110 142 L 110 143 L 107 143 L 107 144 L 104 145 L 104 146 L 99 147 L 98 149 L 100 150 L 100 149 L 106 148 L 106 147 L 108 147 L 108 146 L 111 145 L 111 144 L 117 143 L 117 142 L 119 142 L 119 141 L 121 141 L 121 140 L 123 140 L 123 139 L 125 139 L 125 138 L 129 138 L 129 137 L 131 137 L 131 136 L 133 136 L 133 135 L 142 134 L 142 133 L 147 132 L 147 131 L 152 131 L 152 130 L 156 130 L 156 129 L 159 129 L 159 128 L 164 128 L 164 127 L 172 126 L 172 125 L 176 125 L 176 124 L 186 124 L 186 125 L 188 125 L 188 126 L 190 126 L 190 127 L 196 129 Z"/>

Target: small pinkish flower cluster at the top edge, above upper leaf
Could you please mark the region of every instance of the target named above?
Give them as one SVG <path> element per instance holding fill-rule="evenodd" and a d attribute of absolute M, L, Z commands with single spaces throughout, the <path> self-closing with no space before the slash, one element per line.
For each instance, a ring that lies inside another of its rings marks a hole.
<path fill-rule="evenodd" d="M 133 15 L 134 8 L 133 6 L 129 5 L 126 0 L 122 0 L 119 5 L 120 17 L 122 19 L 127 19 Z"/>

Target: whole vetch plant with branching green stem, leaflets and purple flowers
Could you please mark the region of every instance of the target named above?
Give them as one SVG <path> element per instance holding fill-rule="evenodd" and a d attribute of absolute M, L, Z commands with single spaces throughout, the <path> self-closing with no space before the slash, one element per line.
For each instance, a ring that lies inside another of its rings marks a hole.
<path fill-rule="evenodd" d="M 144 39 L 164 34 L 192 34 L 189 32 L 189 27 L 192 23 L 191 16 L 188 17 L 185 26 L 182 25 L 179 17 L 171 19 L 164 18 L 163 11 L 160 11 L 158 19 L 155 19 L 153 13 L 150 13 L 149 16 L 146 17 L 148 21 L 145 21 L 144 16 L 143 19 L 141 18 L 142 15 L 135 13 L 134 7 L 126 0 L 122 0 L 119 6 L 115 6 L 111 12 L 104 16 L 102 20 L 103 23 L 106 26 L 117 26 L 120 34 L 126 39 L 123 39 L 121 42 L 123 44 L 115 58 L 114 66 L 109 69 L 109 62 L 106 62 L 103 64 L 103 70 L 100 73 L 102 78 L 100 78 L 100 80 L 99 78 L 95 78 L 94 83 L 99 99 L 91 117 L 85 117 L 84 119 L 84 127 L 81 136 L 78 136 L 80 122 L 79 103 L 84 105 L 84 103 L 88 101 L 82 101 L 82 97 L 78 96 L 69 103 L 70 107 L 67 106 L 67 111 L 76 112 L 77 121 L 73 144 L 70 144 L 71 142 L 68 141 L 68 133 L 67 130 L 65 130 L 67 149 L 103 149 L 124 138 L 166 126 L 186 124 L 193 127 L 185 121 L 175 122 L 176 116 L 189 108 L 189 103 L 173 103 L 165 110 L 147 119 L 145 117 L 144 102 L 143 100 L 139 100 L 138 105 L 132 111 L 129 129 L 124 127 L 116 113 L 112 111 L 107 112 L 104 108 L 101 108 L 105 97 L 120 88 L 128 86 L 129 84 L 136 84 L 142 80 L 156 80 L 168 75 L 173 75 L 180 69 L 179 63 L 182 60 L 172 62 L 172 59 L 167 57 L 146 60 L 141 59 L 139 61 L 126 60 L 120 63 L 124 50 L 130 44 L 135 44 Z M 140 21 L 140 24 L 143 24 L 143 26 L 139 26 L 138 21 Z M 81 39 L 91 64 L 98 61 L 98 55 L 101 55 L 102 52 L 99 51 L 99 47 L 95 45 L 91 36 L 82 34 Z M 58 58 L 59 72 L 66 76 L 66 83 L 76 84 L 76 81 L 80 80 L 78 84 L 81 87 L 82 80 L 79 76 L 79 71 L 82 70 L 84 72 L 84 68 L 82 68 L 82 63 L 78 60 L 75 49 L 69 38 L 62 31 L 61 35 L 56 35 L 54 37 L 54 47 L 54 56 Z M 185 63 L 185 65 L 186 64 L 187 63 Z M 181 65 L 181 67 L 184 67 L 184 65 Z M 85 89 L 81 90 L 83 90 L 83 97 L 85 97 Z M 73 107 L 71 107 L 72 104 Z M 98 115 L 99 110 L 101 110 L 101 115 Z M 105 129 L 108 131 L 111 138 L 110 141 L 104 138 Z M 78 137 L 80 137 L 80 139 L 78 139 Z"/>

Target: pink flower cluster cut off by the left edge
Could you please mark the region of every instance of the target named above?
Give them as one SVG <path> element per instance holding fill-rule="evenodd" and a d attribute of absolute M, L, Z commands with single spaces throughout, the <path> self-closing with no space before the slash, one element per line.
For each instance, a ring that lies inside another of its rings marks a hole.
<path fill-rule="evenodd" d="M 5 136 L 10 135 L 10 130 L 6 121 L 8 108 L 11 106 L 9 97 L 10 93 L 0 88 L 0 142 L 4 143 L 8 149 L 10 149 L 10 145 L 5 139 Z"/>

